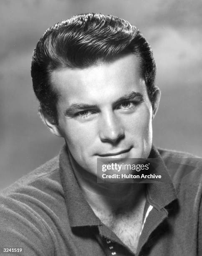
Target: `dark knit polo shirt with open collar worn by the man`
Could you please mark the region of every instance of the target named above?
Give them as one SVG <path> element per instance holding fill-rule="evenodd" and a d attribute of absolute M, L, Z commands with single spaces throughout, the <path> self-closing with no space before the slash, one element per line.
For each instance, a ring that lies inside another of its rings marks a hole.
<path fill-rule="evenodd" d="M 202 161 L 151 149 L 166 182 L 146 184 L 148 212 L 136 256 L 202 255 Z M 5 249 L 21 248 L 21 252 Z M 95 215 L 74 176 L 68 151 L 0 194 L 0 255 L 130 256 Z"/>

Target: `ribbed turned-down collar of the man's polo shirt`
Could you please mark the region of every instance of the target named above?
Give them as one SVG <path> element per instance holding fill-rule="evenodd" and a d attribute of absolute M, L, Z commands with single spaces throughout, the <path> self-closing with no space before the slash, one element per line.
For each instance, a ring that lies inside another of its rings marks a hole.
<path fill-rule="evenodd" d="M 147 200 L 156 208 L 163 208 L 176 199 L 176 193 L 171 178 L 167 172 L 163 159 L 158 150 L 152 146 L 149 158 L 155 158 L 156 171 L 166 182 L 152 182 L 147 184 Z M 61 170 L 61 183 L 64 189 L 69 223 L 72 227 L 101 225 L 101 221 L 85 200 L 69 160 L 66 145 L 63 146 L 59 156 Z"/>

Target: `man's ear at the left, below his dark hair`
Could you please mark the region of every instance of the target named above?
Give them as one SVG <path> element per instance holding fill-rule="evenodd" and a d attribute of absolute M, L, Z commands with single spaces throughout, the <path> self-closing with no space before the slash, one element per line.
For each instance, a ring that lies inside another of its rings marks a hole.
<path fill-rule="evenodd" d="M 51 118 L 49 115 L 47 115 L 47 113 L 45 113 L 45 111 L 42 110 L 41 106 L 38 107 L 38 115 L 40 116 L 42 122 L 45 125 L 47 125 L 51 133 L 53 133 L 58 137 L 63 137 L 56 121 L 53 118 Z"/>

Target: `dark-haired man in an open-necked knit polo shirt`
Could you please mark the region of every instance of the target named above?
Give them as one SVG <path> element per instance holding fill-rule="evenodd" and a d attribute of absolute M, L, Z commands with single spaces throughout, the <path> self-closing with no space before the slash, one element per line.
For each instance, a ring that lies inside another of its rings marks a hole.
<path fill-rule="evenodd" d="M 152 146 L 155 72 L 148 42 L 120 18 L 75 15 L 45 32 L 33 89 L 65 146 L 2 192 L 2 254 L 201 255 L 201 161 Z"/>

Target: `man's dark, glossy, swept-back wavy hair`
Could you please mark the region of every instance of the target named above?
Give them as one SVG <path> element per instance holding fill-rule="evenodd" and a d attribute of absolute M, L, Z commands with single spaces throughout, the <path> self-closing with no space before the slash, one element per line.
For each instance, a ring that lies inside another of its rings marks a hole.
<path fill-rule="evenodd" d="M 112 15 L 74 15 L 46 30 L 36 45 L 31 63 L 33 90 L 41 108 L 57 122 L 58 93 L 50 73 L 59 67 L 89 67 L 121 54 L 133 53 L 140 61 L 141 76 L 153 101 L 156 64 L 151 46 L 128 21 Z"/>

